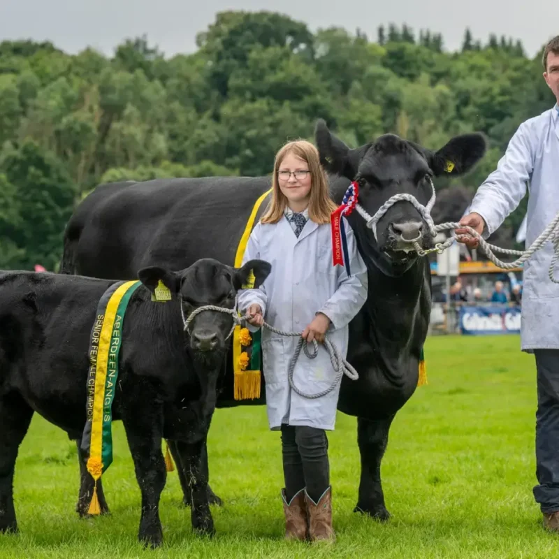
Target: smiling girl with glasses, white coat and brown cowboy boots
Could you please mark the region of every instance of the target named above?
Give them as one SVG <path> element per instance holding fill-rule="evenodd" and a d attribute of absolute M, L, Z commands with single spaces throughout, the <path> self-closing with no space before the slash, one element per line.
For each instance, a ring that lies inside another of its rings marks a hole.
<path fill-rule="evenodd" d="M 266 317 L 276 328 L 302 331 L 307 343 L 319 342 L 317 357 L 311 360 L 301 351 L 293 372 L 293 382 L 304 393 L 331 386 L 335 371 L 321 342 L 327 334 L 346 356 L 349 321 L 367 298 L 367 269 L 347 222 L 351 275 L 347 266 L 333 266 L 330 219 L 336 208 L 316 147 L 304 140 L 287 143 L 275 157 L 272 201 L 243 259 L 272 264 L 259 289 L 240 292 L 239 307 L 249 315 L 251 329 Z M 293 391 L 288 368 L 297 344 L 298 337 L 263 329 L 268 421 L 270 429 L 282 432 L 286 538 L 335 539 L 325 430 L 335 425 L 340 383 L 315 399 Z"/>

